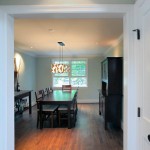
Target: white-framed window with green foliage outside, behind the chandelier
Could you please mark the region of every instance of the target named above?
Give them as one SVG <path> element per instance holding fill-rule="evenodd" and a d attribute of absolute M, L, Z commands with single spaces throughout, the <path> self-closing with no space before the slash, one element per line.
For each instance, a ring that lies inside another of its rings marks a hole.
<path fill-rule="evenodd" d="M 53 60 L 52 63 L 61 62 Z M 65 60 L 63 64 L 70 66 L 70 72 L 53 74 L 53 87 L 61 87 L 63 84 L 87 87 L 87 60 Z"/>

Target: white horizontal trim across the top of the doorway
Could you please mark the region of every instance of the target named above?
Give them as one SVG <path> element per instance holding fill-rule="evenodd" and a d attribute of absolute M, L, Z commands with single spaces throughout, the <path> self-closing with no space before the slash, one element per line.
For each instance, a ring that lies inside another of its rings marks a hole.
<path fill-rule="evenodd" d="M 125 13 L 132 6 L 133 4 L 1 5 L 0 9 L 15 16 L 17 14 L 39 13 Z"/>

